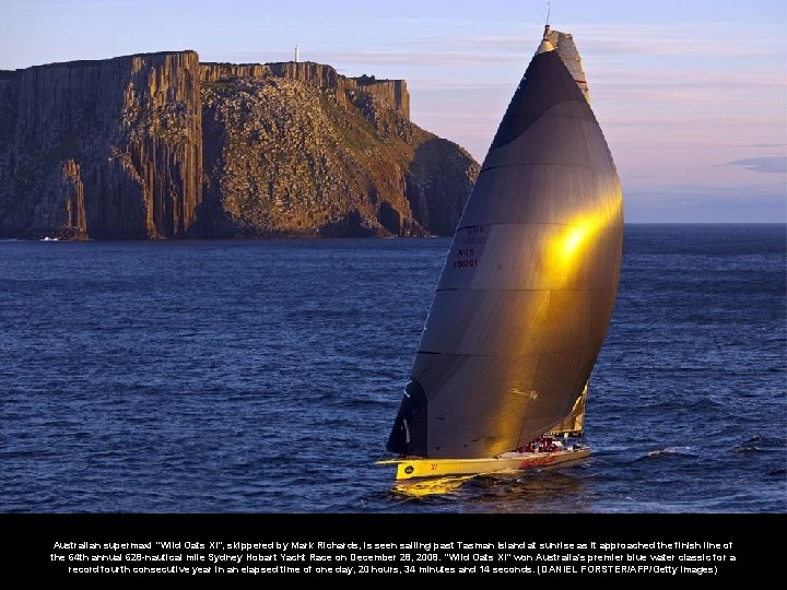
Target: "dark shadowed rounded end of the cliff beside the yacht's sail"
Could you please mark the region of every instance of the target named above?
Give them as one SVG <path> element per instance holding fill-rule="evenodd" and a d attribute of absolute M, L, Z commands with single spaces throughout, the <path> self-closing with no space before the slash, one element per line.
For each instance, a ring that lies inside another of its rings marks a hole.
<path fill-rule="evenodd" d="M 479 170 L 472 156 L 456 143 L 441 138 L 421 143 L 406 175 L 415 221 L 435 235 L 454 235 Z"/>

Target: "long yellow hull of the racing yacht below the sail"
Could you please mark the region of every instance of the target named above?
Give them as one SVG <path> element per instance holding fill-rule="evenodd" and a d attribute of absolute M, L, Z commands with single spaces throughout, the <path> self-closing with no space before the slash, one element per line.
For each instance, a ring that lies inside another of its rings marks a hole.
<path fill-rule="evenodd" d="M 566 449 L 553 452 L 505 452 L 489 459 L 424 459 L 404 457 L 377 461 L 378 465 L 396 465 L 397 480 L 483 475 L 498 471 L 551 469 L 586 459 L 590 449 Z"/>

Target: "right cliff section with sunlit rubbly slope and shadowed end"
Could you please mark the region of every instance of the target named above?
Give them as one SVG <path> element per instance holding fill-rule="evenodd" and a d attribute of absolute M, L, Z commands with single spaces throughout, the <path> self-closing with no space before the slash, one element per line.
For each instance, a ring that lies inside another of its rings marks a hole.
<path fill-rule="evenodd" d="M 208 63 L 202 80 L 208 234 L 453 233 L 478 166 L 410 122 L 403 81 L 317 63 Z"/>

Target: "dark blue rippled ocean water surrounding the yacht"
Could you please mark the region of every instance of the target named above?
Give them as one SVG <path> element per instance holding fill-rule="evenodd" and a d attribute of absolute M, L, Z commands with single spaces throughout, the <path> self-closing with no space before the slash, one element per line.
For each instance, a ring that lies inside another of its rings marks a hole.
<path fill-rule="evenodd" d="M 0 511 L 787 511 L 784 225 L 626 226 L 591 459 L 396 492 L 448 246 L 0 243 Z"/>

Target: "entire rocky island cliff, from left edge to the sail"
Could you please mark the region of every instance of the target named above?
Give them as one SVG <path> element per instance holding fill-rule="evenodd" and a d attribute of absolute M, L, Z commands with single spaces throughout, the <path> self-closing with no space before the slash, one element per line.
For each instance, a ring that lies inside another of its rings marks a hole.
<path fill-rule="evenodd" d="M 478 174 L 401 80 L 193 51 L 0 72 L 0 235 L 447 235 Z"/>

